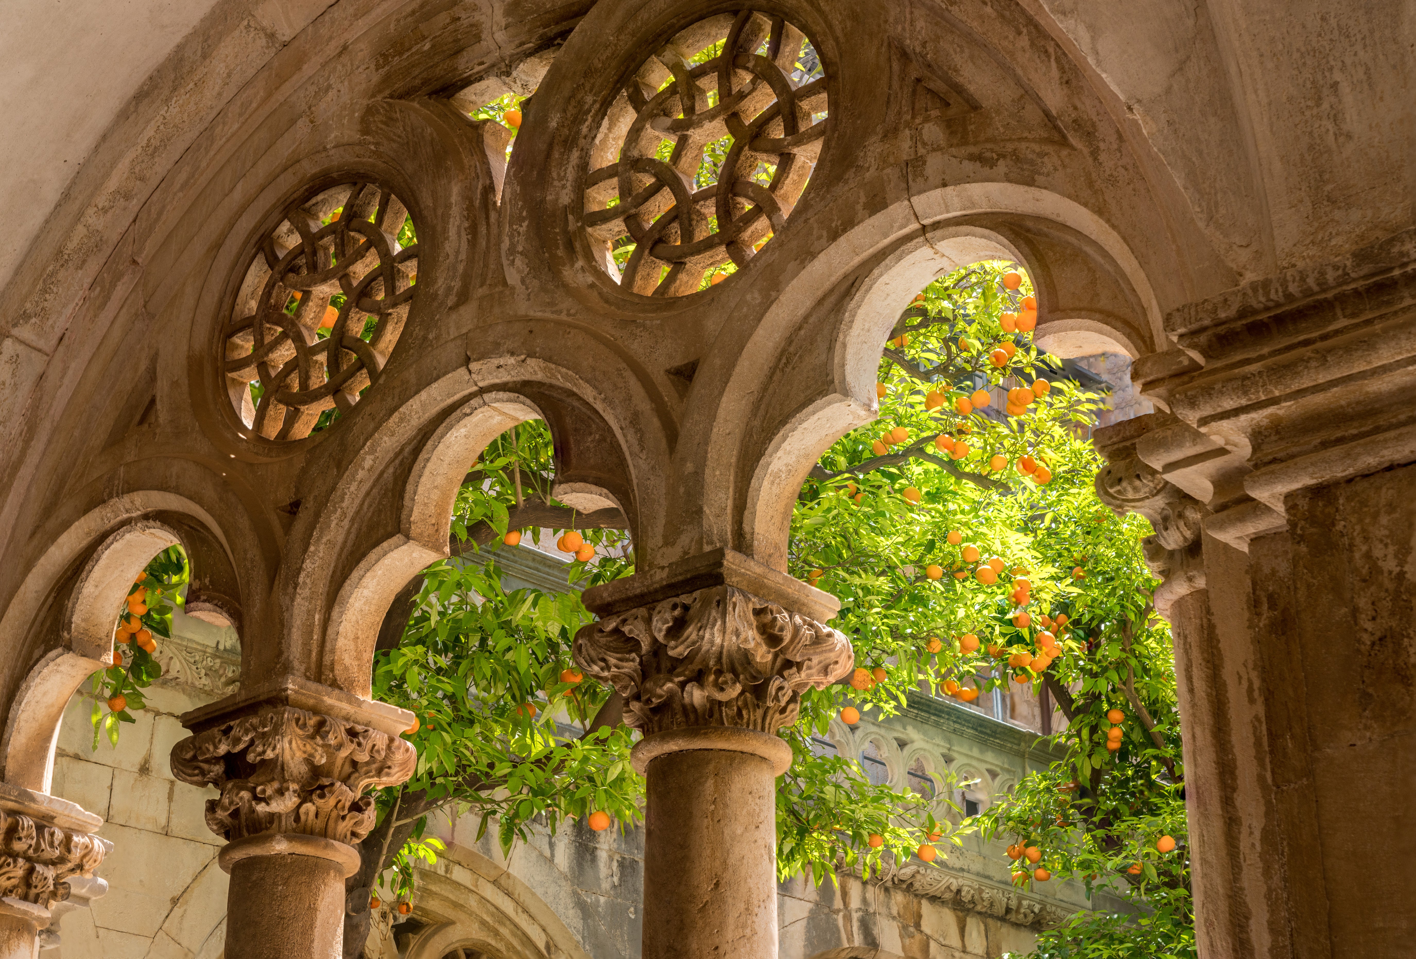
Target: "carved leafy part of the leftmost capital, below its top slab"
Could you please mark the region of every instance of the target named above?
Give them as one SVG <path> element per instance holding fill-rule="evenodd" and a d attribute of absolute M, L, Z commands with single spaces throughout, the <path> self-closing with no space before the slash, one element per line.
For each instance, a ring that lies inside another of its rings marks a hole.
<path fill-rule="evenodd" d="M 110 849 L 98 836 L 0 809 L 0 898 L 47 909 L 68 898 L 67 880 L 92 875 Z"/>

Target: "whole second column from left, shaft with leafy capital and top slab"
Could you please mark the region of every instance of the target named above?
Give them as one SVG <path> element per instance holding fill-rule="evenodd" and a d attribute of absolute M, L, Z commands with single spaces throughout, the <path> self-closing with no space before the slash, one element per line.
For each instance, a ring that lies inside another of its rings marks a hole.
<path fill-rule="evenodd" d="M 287 679 L 188 713 L 173 775 L 221 790 L 207 826 L 227 840 L 227 949 L 232 959 L 340 959 L 344 878 L 374 827 L 364 790 L 408 779 L 409 715 Z"/>

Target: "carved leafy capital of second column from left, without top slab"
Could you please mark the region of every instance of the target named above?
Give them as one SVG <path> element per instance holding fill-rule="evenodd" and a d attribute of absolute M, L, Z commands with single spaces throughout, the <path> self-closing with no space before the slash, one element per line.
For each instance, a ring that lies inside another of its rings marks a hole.
<path fill-rule="evenodd" d="M 228 841 L 299 833 L 353 846 L 374 827 L 364 790 L 404 782 L 416 761 L 395 735 L 290 705 L 263 705 L 171 752 L 173 775 L 221 790 L 207 826 Z"/>

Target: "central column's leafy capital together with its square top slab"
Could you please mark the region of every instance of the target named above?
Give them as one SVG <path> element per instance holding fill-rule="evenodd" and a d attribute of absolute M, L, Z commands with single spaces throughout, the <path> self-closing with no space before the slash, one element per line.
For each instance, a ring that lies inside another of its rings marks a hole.
<path fill-rule="evenodd" d="M 576 633 L 573 647 L 586 673 L 624 697 L 624 722 L 646 735 L 701 727 L 772 734 L 796 721 L 804 690 L 851 671 L 850 640 L 797 612 L 833 613 L 828 594 L 726 550 L 666 572 L 644 577 L 639 591 L 637 577 L 613 591 L 588 589 L 586 606 L 602 618 Z"/>

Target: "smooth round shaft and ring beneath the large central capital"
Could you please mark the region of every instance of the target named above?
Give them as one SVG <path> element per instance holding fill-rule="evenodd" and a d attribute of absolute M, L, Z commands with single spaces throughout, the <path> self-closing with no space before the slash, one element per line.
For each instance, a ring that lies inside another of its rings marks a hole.
<path fill-rule="evenodd" d="M 643 959 L 776 958 L 775 790 L 790 762 L 777 737 L 724 727 L 636 747 L 647 769 Z"/>

